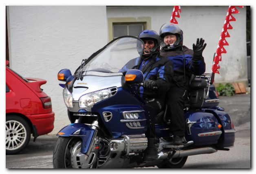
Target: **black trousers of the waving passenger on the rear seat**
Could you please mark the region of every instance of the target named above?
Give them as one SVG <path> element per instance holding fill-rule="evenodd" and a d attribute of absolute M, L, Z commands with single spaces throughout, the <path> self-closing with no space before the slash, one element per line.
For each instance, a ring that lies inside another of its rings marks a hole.
<path fill-rule="evenodd" d="M 167 93 L 167 103 L 170 108 L 170 133 L 181 137 L 185 136 L 184 103 L 186 90 L 181 87 L 170 87 Z"/>

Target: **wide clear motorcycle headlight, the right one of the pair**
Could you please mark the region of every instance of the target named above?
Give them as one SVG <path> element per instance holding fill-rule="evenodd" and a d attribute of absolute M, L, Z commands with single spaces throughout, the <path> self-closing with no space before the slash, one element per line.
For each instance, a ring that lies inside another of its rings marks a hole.
<path fill-rule="evenodd" d="M 108 89 L 91 92 L 79 98 L 79 107 L 80 108 L 93 107 L 95 103 L 105 100 L 107 98 L 109 98 Z"/>

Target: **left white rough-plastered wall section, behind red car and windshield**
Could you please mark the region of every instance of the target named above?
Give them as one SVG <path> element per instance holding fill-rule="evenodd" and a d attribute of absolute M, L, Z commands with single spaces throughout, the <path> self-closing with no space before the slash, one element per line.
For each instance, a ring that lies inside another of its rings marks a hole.
<path fill-rule="evenodd" d="M 106 45 L 106 6 L 10 6 L 7 16 L 11 68 L 47 80 L 41 88 L 52 100 L 50 134 L 56 134 L 70 123 L 57 73 L 74 73 L 82 59 Z"/>

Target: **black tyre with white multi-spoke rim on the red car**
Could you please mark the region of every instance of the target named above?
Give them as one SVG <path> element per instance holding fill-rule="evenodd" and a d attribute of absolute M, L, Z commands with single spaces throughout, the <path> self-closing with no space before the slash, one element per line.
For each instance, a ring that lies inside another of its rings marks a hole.
<path fill-rule="evenodd" d="M 5 151 L 6 154 L 18 154 L 30 141 L 29 124 L 20 116 L 8 115 L 5 120 Z"/>

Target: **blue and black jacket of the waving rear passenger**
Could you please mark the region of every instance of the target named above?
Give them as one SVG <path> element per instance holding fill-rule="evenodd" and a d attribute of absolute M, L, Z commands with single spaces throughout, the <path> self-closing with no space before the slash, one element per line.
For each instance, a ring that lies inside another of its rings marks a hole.
<path fill-rule="evenodd" d="M 193 50 L 186 46 L 182 46 L 173 51 L 161 49 L 160 55 L 172 61 L 174 65 L 171 86 L 188 87 L 192 74 L 198 76 L 205 72 L 204 58 L 195 58 L 193 54 Z"/>

